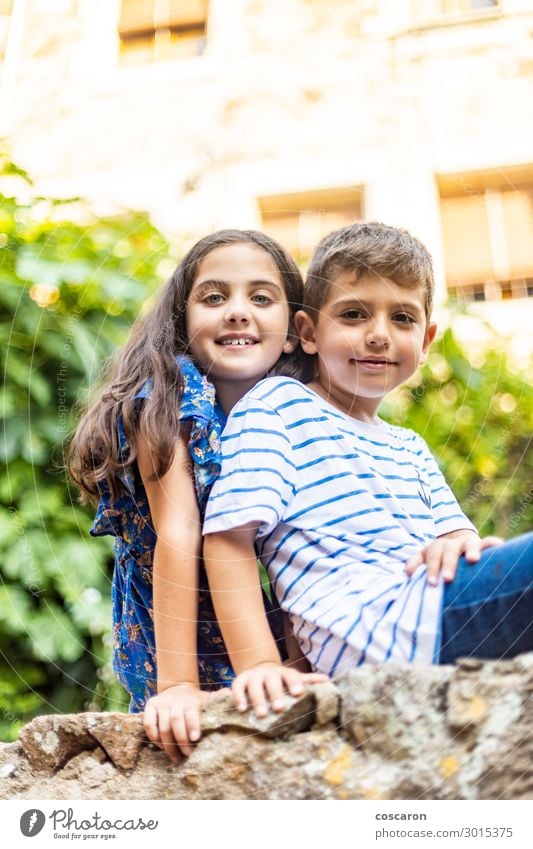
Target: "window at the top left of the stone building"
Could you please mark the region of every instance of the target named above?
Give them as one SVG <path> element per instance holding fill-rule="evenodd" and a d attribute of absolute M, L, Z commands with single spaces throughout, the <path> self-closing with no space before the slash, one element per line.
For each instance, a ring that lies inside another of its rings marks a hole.
<path fill-rule="evenodd" d="M 206 41 L 207 0 L 122 0 L 119 36 L 125 64 L 198 56 Z"/>

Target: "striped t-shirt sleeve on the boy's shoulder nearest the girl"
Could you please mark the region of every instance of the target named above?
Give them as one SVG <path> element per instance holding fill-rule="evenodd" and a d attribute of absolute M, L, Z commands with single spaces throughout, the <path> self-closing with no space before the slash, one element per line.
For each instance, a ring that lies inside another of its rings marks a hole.
<path fill-rule="evenodd" d="M 248 524 L 258 536 L 279 524 L 294 494 L 292 446 L 279 413 L 247 396 L 232 411 L 221 442 L 222 467 L 211 490 L 204 534 Z"/>

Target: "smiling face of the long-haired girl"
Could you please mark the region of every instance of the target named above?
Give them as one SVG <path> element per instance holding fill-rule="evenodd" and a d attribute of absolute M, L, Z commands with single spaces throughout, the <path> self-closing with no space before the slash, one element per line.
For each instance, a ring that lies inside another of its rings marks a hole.
<path fill-rule="evenodd" d="M 248 242 L 214 248 L 187 301 L 189 349 L 226 411 L 289 353 L 289 306 L 277 266 Z"/>

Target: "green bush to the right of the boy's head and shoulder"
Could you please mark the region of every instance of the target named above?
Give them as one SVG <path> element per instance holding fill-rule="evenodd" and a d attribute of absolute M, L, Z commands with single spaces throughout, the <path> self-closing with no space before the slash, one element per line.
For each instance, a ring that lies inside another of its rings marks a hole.
<path fill-rule="evenodd" d="M 483 536 L 533 527 L 530 387 L 531 375 L 511 367 L 488 328 L 483 351 L 470 357 L 448 329 L 410 385 L 384 404 L 386 418 L 428 442 Z"/>

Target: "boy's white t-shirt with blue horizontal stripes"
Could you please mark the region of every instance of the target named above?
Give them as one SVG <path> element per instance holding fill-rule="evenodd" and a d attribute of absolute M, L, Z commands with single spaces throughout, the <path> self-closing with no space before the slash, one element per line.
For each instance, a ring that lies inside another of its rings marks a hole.
<path fill-rule="evenodd" d="M 420 436 L 274 377 L 234 408 L 222 455 L 204 533 L 259 523 L 258 555 L 314 669 L 433 661 L 442 583 L 424 566 L 408 578 L 405 561 L 473 526 Z"/>

